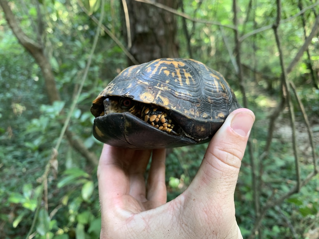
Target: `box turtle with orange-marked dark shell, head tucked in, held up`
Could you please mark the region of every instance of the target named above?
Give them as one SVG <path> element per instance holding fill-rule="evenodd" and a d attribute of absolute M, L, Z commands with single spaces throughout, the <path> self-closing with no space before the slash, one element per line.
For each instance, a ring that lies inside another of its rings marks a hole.
<path fill-rule="evenodd" d="M 93 101 L 93 135 L 122 148 L 210 141 L 240 108 L 224 77 L 193 59 L 161 58 L 124 69 Z"/>

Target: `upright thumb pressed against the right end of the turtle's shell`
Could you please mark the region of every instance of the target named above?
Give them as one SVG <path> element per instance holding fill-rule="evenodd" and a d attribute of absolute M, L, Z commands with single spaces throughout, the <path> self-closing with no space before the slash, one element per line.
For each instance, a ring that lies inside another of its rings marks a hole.
<path fill-rule="evenodd" d="M 188 188 L 195 198 L 204 196 L 215 202 L 220 199 L 220 203 L 234 201 L 241 159 L 254 120 L 254 113 L 245 108 L 227 117 L 208 145 L 200 169 Z"/>

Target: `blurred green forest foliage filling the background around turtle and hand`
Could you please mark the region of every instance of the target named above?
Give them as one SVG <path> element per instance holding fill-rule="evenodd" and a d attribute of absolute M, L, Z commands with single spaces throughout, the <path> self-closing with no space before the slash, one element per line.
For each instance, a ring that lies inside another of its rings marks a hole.
<path fill-rule="evenodd" d="M 121 2 L 106 1 L 102 24 L 125 43 Z M 39 65 L 20 45 L 0 9 L 0 238 L 24 238 L 30 228 L 29 238 L 97 238 L 100 234 L 100 212 L 96 165 L 75 150 L 67 138 L 63 138 L 57 161 L 51 165 L 44 183 L 41 177 L 61 132 L 61 122 L 66 117 L 61 112 L 70 110 L 96 32 L 97 24 L 83 8 L 99 18 L 100 0 L 9 3 L 24 33 L 44 44 L 44 53 L 51 64 L 61 100 L 50 102 Z M 203 21 L 233 25 L 232 4 L 230 0 L 183 0 L 179 2 L 177 11 Z M 237 4 L 240 37 L 272 25 L 276 20 L 274 1 L 241 0 Z M 304 44 L 305 33 L 309 35 L 319 14 L 319 4 L 315 1 L 283 0 L 282 19 L 300 12 L 299 4 L 308 7 L 307 11 L 279 26 L 286 65 Z M 39 35 L 36 34 L 40 27 L 39 9 L 43 21 L 41 39 L 37 39 Z M 192 57 L 218 70 L 243 104 L 240 82 L 234 69 L 233 29 L 188 19 L 185 25 L 183 18 L 176 16 L 175 40 L 180 57 Z M 296 85 L 305 107 L 313 132 L 314 149 L 318 154 L 318 34 L 312 38 L 308 51 L 309 55 L 304 53 L 288 76 Z M 235 192 L 236 217 L 244 238 L 319 238 L 318 174 L 312 175 L 300 192 L 293 193 L 282 203 L 275 203 L 262 217 L 256 213 L 252 172 L 258 179 L 257 205 L 260 207 L 289 192 L 297 180 L 287 108 L 276 120 L 268 155 L 262 157 L 270 130 L 269 120 L 281 99 L 282 71 L 278 54 L 271 27 L 242 40 L 240 55 L 244 87 L 249 108 L 256 114 L 256 122 L 250 135 L 252 150 L 246 152 L 242 161 Z M 96 158 L 100 155 L 102 144 L 92 136 L 92 101 L 127 66 L 127 56 L 121 47 L 102 29 L 69 123 L 69 130 Z M 312 148 L 302 112 L 291 94 L 296 116 L 300 177 L 304 179 L 314 171 Z M 189 185 L 206 147 L 207 144 L 203 144 L 168 150 L 168 200 L 174 199 Z M 255 168 L 249 153 L 253 154 Z M 253 230 L 258 218 L 261 218 L 261 223 Z"/>

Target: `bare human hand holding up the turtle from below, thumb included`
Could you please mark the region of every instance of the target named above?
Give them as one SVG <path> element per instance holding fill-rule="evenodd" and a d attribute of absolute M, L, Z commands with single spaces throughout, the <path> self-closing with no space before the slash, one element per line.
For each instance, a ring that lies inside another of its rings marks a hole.
<path fill-rule="evenodd" d="M 212 138 L 194 180 L 170 202 L 165 149 L 104 145 L 98 166 L 100 238 L 242 238 L 234 190 L 254 120 L 248 109 L 232 112 Z"/>

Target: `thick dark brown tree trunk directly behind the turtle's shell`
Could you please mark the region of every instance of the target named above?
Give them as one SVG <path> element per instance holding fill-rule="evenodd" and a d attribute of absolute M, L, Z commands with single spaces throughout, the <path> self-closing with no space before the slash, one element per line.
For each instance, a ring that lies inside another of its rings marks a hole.
<path fill-rule="evenodd" d="M 150 4 L 132 0 L 125 2 L 121 11 L 123 35 L 135 59 L 141 64 L 164 57 L 178 57 L 175 15 Z M 156 0 L 156 2 L 177 9 L 179 1 Z M 129 25 L 125 17 L 129 18 Z M 127 34 L 128 29 L 130 34 Z M 128 64 L 134 65 L 130 59 Z"/>

